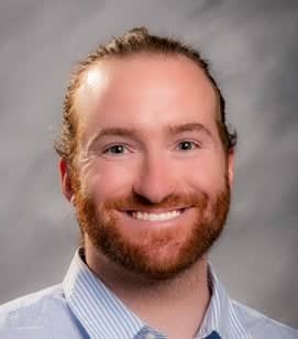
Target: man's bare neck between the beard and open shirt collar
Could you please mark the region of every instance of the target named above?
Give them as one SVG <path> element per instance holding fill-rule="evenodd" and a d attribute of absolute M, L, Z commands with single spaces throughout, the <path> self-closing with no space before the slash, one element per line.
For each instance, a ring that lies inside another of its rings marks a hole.
<path fill-rule="evenodd" d="M 85 250 L 90 270 L 144 322 L 167 338 L 194 338 L 210 302 L 206 258 L 172 280 L 152 282 L 115 265 L 91 244 Z"/>

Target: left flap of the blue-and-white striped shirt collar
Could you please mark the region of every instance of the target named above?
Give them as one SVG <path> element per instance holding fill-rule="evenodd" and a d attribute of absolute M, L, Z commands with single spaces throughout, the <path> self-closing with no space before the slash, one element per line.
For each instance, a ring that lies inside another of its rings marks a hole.
<path fill-rule="evenodd" d="M 144 324 L 90 271 L 76 251 L 63 281 L 66 302 L 90 338 L 134 338 Z"/>

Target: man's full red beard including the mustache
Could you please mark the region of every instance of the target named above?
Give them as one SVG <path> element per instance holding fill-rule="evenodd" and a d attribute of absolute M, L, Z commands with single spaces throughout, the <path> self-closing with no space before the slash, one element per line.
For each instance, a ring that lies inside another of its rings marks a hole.
<path fill-rule="evenodd" d="M 77 219 L 82 234 L 92 245 L 114 263 L 130 272 L 157 281 L 174 277 L 202 258 L 219 238 L 230 208 L 230 187 L 225 177 L 224 189 L 214 197 L 173 195 L 161 204 L 151 204 L 144 197 L 131 195 L 95 206 L 91 197 L 75 187 Z M 192 206 L 194 218 L 188 225 L 175 229 L 152 229 L 141 232 L 137 239 L 125 234 L 115 210 L 175 209 Z"/>

